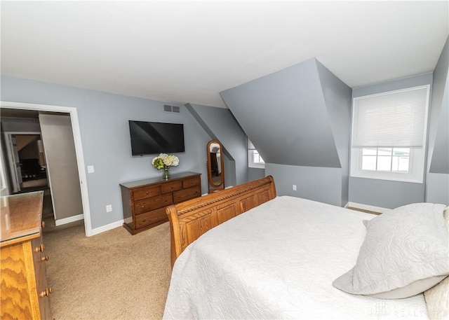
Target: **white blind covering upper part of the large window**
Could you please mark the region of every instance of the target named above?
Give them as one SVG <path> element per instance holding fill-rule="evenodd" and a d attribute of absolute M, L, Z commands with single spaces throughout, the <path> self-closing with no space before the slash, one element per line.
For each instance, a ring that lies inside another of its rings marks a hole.
<path fill-rule="evenodd" d="M 352 146 L 424 146 L 428 102 L 428 85 L 355 98 Z"/>

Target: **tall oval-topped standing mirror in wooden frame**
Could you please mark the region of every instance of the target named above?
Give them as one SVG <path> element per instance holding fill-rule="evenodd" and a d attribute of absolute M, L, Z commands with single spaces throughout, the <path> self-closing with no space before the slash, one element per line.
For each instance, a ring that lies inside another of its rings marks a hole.
<path fill-rule="evenodd" d="M 218 140 L 208 142 L 208 187 L 209 193 L 225 188 L 225 167 L 223 165 L 223 146 Z"/>

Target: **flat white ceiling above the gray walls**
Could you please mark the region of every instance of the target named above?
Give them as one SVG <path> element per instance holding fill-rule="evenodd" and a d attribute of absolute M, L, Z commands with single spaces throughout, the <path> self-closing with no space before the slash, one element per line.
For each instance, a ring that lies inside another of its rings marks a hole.
<path fill-rule="evenodd" d="M 449 1 L 1 1 L 1 73 L 173 104 L 316 57 L 351 88 L 433 71 Z"/>

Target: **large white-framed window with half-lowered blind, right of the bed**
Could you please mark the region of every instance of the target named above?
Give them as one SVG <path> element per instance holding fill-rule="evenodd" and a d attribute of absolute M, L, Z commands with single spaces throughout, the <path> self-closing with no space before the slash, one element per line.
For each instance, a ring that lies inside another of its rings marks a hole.
<path fill-rule="evenodd" d="M 422 183 L 429 88 L 354 98 L 351 176 Z"/>

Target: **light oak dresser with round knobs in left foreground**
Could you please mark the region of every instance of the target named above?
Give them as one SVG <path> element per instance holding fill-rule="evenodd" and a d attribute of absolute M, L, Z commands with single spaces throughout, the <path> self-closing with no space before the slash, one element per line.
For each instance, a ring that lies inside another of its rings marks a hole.
<path fill-rule="evenodd" d="M 42 242 L 43 191 L 0 197 L 0 318 L 51 319 Z"/>

